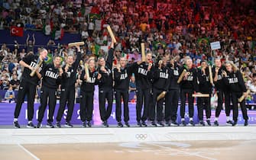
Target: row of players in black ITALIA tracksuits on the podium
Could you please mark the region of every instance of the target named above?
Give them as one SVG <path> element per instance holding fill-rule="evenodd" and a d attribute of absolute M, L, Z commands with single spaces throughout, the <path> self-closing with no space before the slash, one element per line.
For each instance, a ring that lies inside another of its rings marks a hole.
<path fill-rule="evenodd" d="M 41 80 L 41 106 L 39 107 L 37 128 L 42 127 L 42 120 L 47 103 L 49 105 L 49 115 L 47 127 L 53 128 L 53 112 L 56 106 L 56 93 L 60 85 L 60 107 L 57 113 L 56 126 L 61 127 L 60 120 L 66 107 L 68 113 L 65 126 L 72 127 L 70 123 L 73 114 L 75 99 L 76 70 L 82 59 L 79 46 L 76 46 L 76 60 L 73 56 L 67 56 L 66 64 L 60 65 L 61 57 L 55 56 L 52 64 L 44 62 L 36 70 L 36 74 L 31 76 L 31 71 L 35 69 L 39 61 L 47 56 L 47 50 L 41 50 L 39 56 L 28 54 L 20 64 L 24 66 L 21 85 L 18 91 L 18 99 L 15 107 L 14 125 L 20 128 L 18 116 L 21 111 L 21 104 L 28 94 L 28 127 L 35 127 L 32 123 L 34 116 L 34 96 L 37 83 Z M 109 54 L 104 59 L 99 57 L 98 67 L 96 59 L 89 58 L 86 64 L 88 70 L 84 69 L 80 79 L 82 80 L 80 91 L 80 116 L 83 126 L 92 126 L 93 94 L 95 85 L 99 85 L 99 110 L 103 126 L 108 127 L 108 119 L 112 112 L 113 96 L 116 99 L 116 120 L 118 126 L 122 127 L 122 102 L 124 105 L 125 126 L 130 126 L 128 108 L 128 89 L 131 74 L 134 73 L 136 79 L 136 119 L 138 126 L 147 126 L 146 121 L 150 121 L 151 126 L 178 126 L 177 108 L 180 98 L 181 124 L 186 126 L 185 104 L 188 99 L 190 122 L 188 125 L 195 126 L 193 122 L 193 94 L 208 94 L 208 97 L 197 98 L 197 109 L 199 124 L 205 126 L 203 121 L 203 109 L 206 109 L 206 123 L 211 126 L 210 98 L 214 85 L 218 94 L 218 107 L 215 110 L 214 125 L 219 126 L 218 118 L 222 110 L 223 99 L 225 99 L 225 114 L 227 123 L 236 126 L 238 123 L 238 103 L 245 119 L 245 126 L 248 125 L 247 110 L 245 100 L 238 102 L 242 95 L 246 96 L 247 89 L 241 72 L 232 62 L 225 62 L 222 66 L 220 59 L 215 59 L 215 66 L 210 68 L 206 61 L 201 62 L 199 69 L 193 68 L 193 61 L 190 57 L 184 58 L 184 64 L 179 65 L 177 59 L 167 62 L 165 58 L 152 62 L 152 53 L 146 54 L 144 62 L 134 62 L 127 65 L 127 59 L 120 57 L 118 65 L 113 68 L 114 43 L 112 42 Z M 213 83 L 210 81 L 210 70 L 212 69 Z M 183 72 L 185 71 L 185 72 Z M 178 79 L 180 81 L 178 82 Z M 160 94 L 166 93 L 164 98 L 158 100 Z M 105 107 L 105 102 L 108 102 Z M 230 102 L 233 105 L 233 121 L 229 118 Z M 163 104 L 165 110 L 163 114 Z M 142 112 L 143 109 L 143 112 Z M 157 115 L 156 115 L 157 114 Z"/>

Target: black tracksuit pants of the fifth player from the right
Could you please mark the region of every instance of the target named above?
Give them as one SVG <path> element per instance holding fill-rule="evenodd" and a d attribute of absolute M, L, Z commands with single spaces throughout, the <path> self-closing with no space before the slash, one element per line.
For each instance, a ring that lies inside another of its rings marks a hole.
<path fill-rule="evenodd" d="M 178 103 L 179 103 L 179 96 L 180 91 L 179 89 L 171 89 L 167 91 L 165 95 L 165 121 L 168 122 L 169 120 L 176 121 L 177 120 L 177 110 L 178 110 Z"/>

